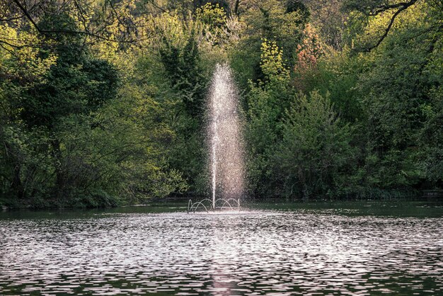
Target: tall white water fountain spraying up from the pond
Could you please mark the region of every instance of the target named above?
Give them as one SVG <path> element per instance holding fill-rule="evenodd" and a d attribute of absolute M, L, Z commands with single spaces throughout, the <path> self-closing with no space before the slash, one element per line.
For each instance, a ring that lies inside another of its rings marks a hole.
<path fill-rule="evenodd" d="M 228 64 L 217 64 L 208 100 L 209 170 L 212 200 L 188 202 L 188 212 L 203 209 L 238 210 L 243 195 L 243 137 L 238 94 Z"/>

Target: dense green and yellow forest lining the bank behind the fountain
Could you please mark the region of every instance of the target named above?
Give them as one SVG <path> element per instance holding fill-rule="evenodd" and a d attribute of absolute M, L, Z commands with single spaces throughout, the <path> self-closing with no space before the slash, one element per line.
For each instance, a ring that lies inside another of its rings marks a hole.
<path fill-rule="evenodd" d="M 229 62 L 251 199 L 443 186 L 442 0 L 1 0 L 0 205 L 209 195 Z"/>

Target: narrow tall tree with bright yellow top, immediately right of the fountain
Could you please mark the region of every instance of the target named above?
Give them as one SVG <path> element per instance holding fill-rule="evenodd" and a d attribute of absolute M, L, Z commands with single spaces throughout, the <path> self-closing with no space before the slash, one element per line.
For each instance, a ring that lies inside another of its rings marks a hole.
<path fill-rule="evenodd" d="M 271 156 L 280 138 L 279 123 L 284 108 L 289 106 L 288 97 L 292 93 L 289 71 L 284 67 L 282 55 L 282 50 L 275 42 L 263 40 L 260 68 L 265 74 L 264 80 L 258 84 L 250 81 L 246 140 L 251 149 L 247 159 L 247 172 L 251 194 L 255 196 L 274 194 Z"/>

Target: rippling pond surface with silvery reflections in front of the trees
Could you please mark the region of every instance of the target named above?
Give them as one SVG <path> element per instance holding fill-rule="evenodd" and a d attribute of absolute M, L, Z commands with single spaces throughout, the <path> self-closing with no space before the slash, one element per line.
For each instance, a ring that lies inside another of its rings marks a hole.
<path fill-rule="evenodd" d="M 443 293 L 443 218 L 262 210 L 0 220 L 0 294 Z"/>

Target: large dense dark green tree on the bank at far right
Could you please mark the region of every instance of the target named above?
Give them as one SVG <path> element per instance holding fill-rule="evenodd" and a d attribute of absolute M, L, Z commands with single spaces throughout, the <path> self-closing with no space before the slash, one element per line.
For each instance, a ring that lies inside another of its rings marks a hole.
<path fill-rule="evenodd" d="M 435 105 L 439 99 L 431 98 L 430 93 L 431 89 L 440 87 L 442 74 L 428 68 L 437 54 L 432 50 L 437 39 L 429 40 L 425 34 L 410 38 L 411 30 L 422 32 L 426 29 L 420 25 L 427 26 L 415 18 L 422 11 L 410 13 L 409 24 L 391 33 L 372 68 L 364 72 L 359 83 L 364 93 L 364 108 L 370 110 L 367 147 L 378 159 L 374 164 L 380 168 L 376 175 L 384 172 L 383 176 L 374 177 L 381 187 L 411 186 L 420 182 L 423 166 L 419 146 L 429 141 L 422 139 L 425 136 L 422 130 L 430 125 L 430 118 L 434 118 L 427 111 L 439 110 Z M 437 147 L 434 149 L 439 151 Z"/>

